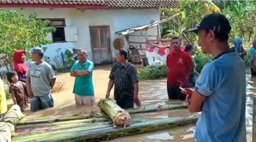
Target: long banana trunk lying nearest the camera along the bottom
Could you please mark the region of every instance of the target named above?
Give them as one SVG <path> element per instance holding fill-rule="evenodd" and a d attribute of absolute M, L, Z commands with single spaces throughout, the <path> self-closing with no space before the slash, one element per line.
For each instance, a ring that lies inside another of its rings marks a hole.
<path fill-rule="evenodd" d="M 100 140 L 113 139 L 120 136 L 129 136 L 147 132 L 165 130 L 195 123 L 198 114 L 182 117 L 172 117 L 160 120 L 148 120 L 142 123 L 131 123 L 127 128 L 105 127 L 84 130 L 84 127 L 69 130 L 60 130 L 58 133 L 32 134 L 28 136 L 17 136 L 12 142 L 99 142 Z"/>

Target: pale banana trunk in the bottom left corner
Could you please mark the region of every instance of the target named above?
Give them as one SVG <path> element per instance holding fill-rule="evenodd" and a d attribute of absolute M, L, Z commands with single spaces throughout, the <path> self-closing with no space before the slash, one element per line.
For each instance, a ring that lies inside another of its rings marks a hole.
<path fill-rule="evenodd" d="M 20 118 L 24 117 L 18 105 L 13 105 L 6 115 L 0 120 L 0 142 L 11 142 L 15 125 Z"/>

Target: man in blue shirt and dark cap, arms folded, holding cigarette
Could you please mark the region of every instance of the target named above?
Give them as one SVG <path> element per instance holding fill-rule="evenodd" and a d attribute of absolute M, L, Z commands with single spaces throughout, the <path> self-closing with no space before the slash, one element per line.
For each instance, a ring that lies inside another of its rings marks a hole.
<path fill-rule="evenodd" d="M 202 50 L 214 58 L 201 71 L 195 90 L 183 91 L 189 111 L 202 111 L 195 130 L 198 142 L 246 142 L 245 65 L 228 45 L 230 30 L 222 14 L 206 15 L 189 30 L 198 34 Z"/>

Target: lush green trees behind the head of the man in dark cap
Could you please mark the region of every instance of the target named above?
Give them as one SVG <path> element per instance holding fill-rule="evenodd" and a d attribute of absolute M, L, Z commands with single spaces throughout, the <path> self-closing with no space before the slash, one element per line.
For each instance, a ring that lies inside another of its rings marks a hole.
<path fill-rule="evenodd" d="M 233 42 L 236 36 L 247 42 L 256 38 L 255 0 L 180 0 L 180 5 L 180 8 L 161 9 L 161 18 L 182 13 L 180 19 L 162 24 L 162 37 L 179 36 L 180 29 L 183 31 L 195 27 L 206 14 L 221 12 L 232 26 L 229 42 Z M 197 43 L 196 34 L 186 33 L 186 36 L 191 44 Z"/>

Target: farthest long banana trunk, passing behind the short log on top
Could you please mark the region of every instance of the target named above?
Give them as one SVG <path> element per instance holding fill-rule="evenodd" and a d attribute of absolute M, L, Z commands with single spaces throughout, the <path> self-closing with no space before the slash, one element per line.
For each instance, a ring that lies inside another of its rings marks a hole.
<path fill-rule="evenodd" d="M 140 113 L 140 112 L 154 112 L 154 111 L 165 111 L 171 109 L 183 109 L 187 108 L 184 103 L 176 103 L 170 105 L 152 105 L 145 106 L 141 108 L 127 109 L 129 114 Z M 20 120 L 17 125 L 29 125 L 29 124 L 37 124 L 37 123 L 54 123 L 60 121 L 69 121 L 69 120 L 81 120 L 81 119 L 89 119 L 89 118 L 99 118 L 99 117 L 107 117 L 107 115 L 103 112 L 91 112 L 91 113 L 79 113 L 79 114 L 65 114 L 65 115 L 52 115 L 52 116 L 44 116 L 44 117 L 25 117 Z"/>

